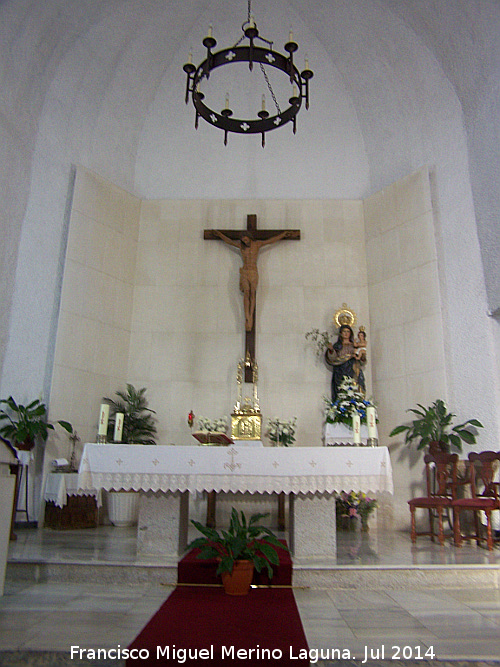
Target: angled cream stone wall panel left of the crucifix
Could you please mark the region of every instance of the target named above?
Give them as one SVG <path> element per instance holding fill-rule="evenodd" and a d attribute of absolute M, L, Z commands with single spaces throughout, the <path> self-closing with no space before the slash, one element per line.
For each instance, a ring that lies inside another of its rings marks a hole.
<path fill-rule="evenodd" d="M 102 398 L 127 380 L 139 212 L 136 197 L 78 169 L 49 418 L 71 422 L 82 443 L 95 441 Z M 47 443 L 46 467 L 68 457 L 69 447 L 58 429 Z"/>

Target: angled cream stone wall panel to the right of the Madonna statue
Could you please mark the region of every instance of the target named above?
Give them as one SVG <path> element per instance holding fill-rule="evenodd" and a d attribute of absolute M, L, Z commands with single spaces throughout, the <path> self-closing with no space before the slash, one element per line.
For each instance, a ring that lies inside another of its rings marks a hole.
<path fill-rule="evenodd" d="M 445 339 L 429 172 L 421 169 L 364 202 L 373 392 L 379 436 L 394 472 L 395 525 L 423 491 L 423 453 L 390 439 L 409 408 L 448 401 Z"/>

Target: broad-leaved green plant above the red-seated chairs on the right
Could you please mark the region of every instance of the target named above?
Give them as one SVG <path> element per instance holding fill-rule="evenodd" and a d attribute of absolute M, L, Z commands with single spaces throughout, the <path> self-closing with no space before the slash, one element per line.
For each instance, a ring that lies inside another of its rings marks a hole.
<path fill-rule="evenodd" d="M 406 444 L 416 442 L 417 449 L 424 449 L 431 443 L 438 443 L 439 449 L 444 452 L 451 451 L 452 447 L 461 452 L 462 442 L 468 445 L 476 443 L 475 429 L 483 428 L 477 419 L 468 419 L 463 424 L 452 426 L 455 415 L 448 412 L 441 399 L 434 401 L 427 408 L 420 403 L 417 403 L 417 406 L 419 409 L 411 408 L 407 411 L 412 412 L 417 418 L 410 424 L 396 426 L 389 434 L 391 437 L 405 433 Z"/>

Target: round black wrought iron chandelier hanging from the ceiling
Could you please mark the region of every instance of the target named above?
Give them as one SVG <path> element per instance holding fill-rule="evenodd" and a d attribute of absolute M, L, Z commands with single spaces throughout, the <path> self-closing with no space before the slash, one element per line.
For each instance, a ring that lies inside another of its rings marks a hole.
<path fill-rule="evenodd" d="M 293 40 L 293 33 L 290 30 L 289 40 L 285 44 L 285 51 L 288 55 L 285 56 L 273 50 L 273 42 L 264 39 L 259 35 L 257 25 L 251 13 L 251 0 L 248 0 L 248 17 L 245 23 L 241 26 L 243 30 L 242 37 L 232 47 L 222 49 L 221 51 L 213 52 L 217 45 L 217 41 L 212 35 L 212 27 L 210 26 L 208 35 L 203 40 L 203 46 L 207 49 L 207 57 L 196 67 L 192 62 L 192 55 L 189 55 L 189 62 L 187 62 L 183 70 L 186 72 L 186 104 L 189 101 L 189 95 L 193 100 L 195 107 L 195 128 L 198 129 L 198 121 L 200 116 L 213 125 L 214 127 L 223 130 L 224 145 L 227 145 L 227 138 L 229 132 L 236 132 L 238 134 L 258 134 L 262 135 L 262 146 L 265 146 L 265 134 L 270 130 L 275 130 L 278 127 L 283 127 L 291 122 L 293 133 L 297 131 L 297 114 L 304 102 L 306 109 L 309 109 L 309 80 L 313 77 L 313 72 L 309 69 L 309 62 L 307 55 L 304 60 L 304 69 L 299 72 L 293 62 L 293 54 L 298 50 L 298 44 Z M 248 45 L 241 45 L 244 40 L 248 40 Z M 265 43 L 265 46 L 257 46 L 256 40 Z M 248 63 L 249 70 L 253 70 L 255 63 L 258 63 L 265 83 L 271 94 L 276 112 L 271 115 L 266 110 L 265 97 L 262 95 L 261 109 L 256 113 L 255 118 L 234 118 L 233 111 L 229 108 L 229 94 L 225 96 L 225 108 L 221 111 L 211 109 L 205 102 L 205 95 L 201 91 L 201 84 L 204 80 L 210 79 L 210 74 L 218 67 L 233 65 L 235 63 Z M 289 106 L 286 109 L 281 109 L 276 99 L 276 95 L 269 80 L 266 67 L 273 67 L 281 70 L 289 79 L 292 94 L 288 100 Z"/>

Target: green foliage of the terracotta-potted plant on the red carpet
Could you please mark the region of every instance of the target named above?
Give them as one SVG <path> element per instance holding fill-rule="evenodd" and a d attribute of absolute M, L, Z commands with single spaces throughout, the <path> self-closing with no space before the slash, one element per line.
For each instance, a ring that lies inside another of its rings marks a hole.
<path fill-rule="evenodd" d="M 219 533 L 215 528 L 208 528 L 198 521 L 191 523 L 203 534 L 191 544 L 188 549 L 201 549 L 198 558 L 218 558 L 219 565 L 217 574 L 232 572 L 237 560 L 249 560 L 254 564 L 257 572 L 263 567 L 267 568 L 269 578 L 273 576 L 272 565 L 279 564 L 276 548 L 288 551 L 274 533 L 265 526 L 257 524 L 264 514 L 252 514 L 247 520 L 244 512 L 238 512 L 233 507 L 231 510 L 231 521 L 229 529 L 221 530 Z"/>

